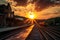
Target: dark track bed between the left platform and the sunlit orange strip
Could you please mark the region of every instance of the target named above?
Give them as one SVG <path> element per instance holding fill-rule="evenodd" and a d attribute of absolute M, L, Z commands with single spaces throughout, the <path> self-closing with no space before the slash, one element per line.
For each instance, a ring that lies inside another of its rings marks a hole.
<path fill-rule="evenodd" d="M 18 33 L 20 33 L 21 31 L 23 31 L 24 29 L 27 29 L 28 27 L 24 27 L 24 28 L 18 28 L 15 30 L 11 30 L 11 31 L 6 31 L 6 32 L 2 32 L 0 33 L 0 40 L 5 40 L 11 36 L 14 36 Z"/>

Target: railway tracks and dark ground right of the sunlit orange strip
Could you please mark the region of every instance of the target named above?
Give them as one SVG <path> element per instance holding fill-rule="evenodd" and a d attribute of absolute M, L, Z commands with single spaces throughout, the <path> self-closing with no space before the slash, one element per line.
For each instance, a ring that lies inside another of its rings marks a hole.
<path fill-rule="evenodd" d="M 35 39 L 34 38 L 34 31 L 32 31 L 30 33 L 30 35 L 27 37 L 26 40 L 60 40 L 60 30 L 58 31 L 58 29 L 56 28 L 52 28 L 52 27 L 39 27 L 35 25 L 35 29 L 38 31 L 38 33 L 40 34 L 40 39 Z M 37 35 L 37 34 L 35 34 Z M 33 37 L 32 37 L 33 36 Z M 33 38 L 33 39 L 32 39 Z M 37 36 L 38 38 L 38 36 Z"/>

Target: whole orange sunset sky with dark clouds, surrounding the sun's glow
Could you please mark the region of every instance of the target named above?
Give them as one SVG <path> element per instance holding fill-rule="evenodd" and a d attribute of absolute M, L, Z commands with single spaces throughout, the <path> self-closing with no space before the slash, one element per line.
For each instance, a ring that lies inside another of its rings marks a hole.
<path fill-rule="evenodd" d="M 0 4 L 7 2 L 15 15 L 25 17 L 32 11 L 37 14 L 37 19 L 60 17 L 60 1 L 57 0 L 0 0 Z"/>

